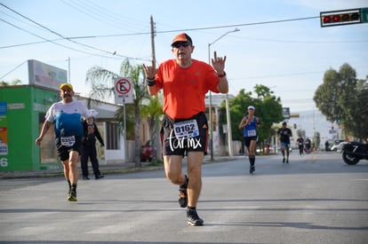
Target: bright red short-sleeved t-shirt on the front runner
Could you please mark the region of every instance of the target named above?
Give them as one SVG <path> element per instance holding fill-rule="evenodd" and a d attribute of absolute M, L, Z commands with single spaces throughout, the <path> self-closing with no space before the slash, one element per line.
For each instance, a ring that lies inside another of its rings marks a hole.
<path fill-rule="evenodd" d="M 183 68 L 170 59 L 158 67 L 156 86 L 164 91 L 164 114 L 172 119 L 187 119 L 205 112 L 205 94 L 219 93 L 219 77 L 213 67 L 196 59 L 192 61 Z"/>

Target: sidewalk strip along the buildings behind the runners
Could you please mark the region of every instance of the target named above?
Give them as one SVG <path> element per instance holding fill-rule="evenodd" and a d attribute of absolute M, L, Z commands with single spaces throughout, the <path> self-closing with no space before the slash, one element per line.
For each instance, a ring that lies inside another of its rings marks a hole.
<path fill-rule="evenodd" d="M 216 156 L 213 161 L 209 155 L 204 157 L 205 163 L 213 163 L 220 161 L 236 160 L 240 156 L 228 157 L 228 156 Z M 243 156 L 244 157 L 244 156 Z M 186 164 L 186 158 L 183 160 L 183 164 Z M 124 163 L 112 163 L 112 164 L 100 164 L 100 171 L 102 175 L 110 174 L 128 174 L 132 172 L 149 171 L 149 170 L 164 170 L 163 163 L 153 163 L 148 161 L 141 161 L 141 167 L 137 167 L 135 162 Z M 80 165 L 78 164 L 78 169 Z M 91 165 L 89 163 L 89 169 Z M 46 169 L 46 170 L 28 170 L 28 171 L 0 171 L 0 179 L 7 178 L 28 178 L 28 177 L 64 177 L 63 169 L 60 164 L 60 169 Z"/>

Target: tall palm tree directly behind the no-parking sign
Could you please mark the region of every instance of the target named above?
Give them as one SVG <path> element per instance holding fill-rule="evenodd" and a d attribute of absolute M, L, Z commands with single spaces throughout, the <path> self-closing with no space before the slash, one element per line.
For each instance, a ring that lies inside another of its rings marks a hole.
<path fill-rule="evenodd" d="M 111 72 L 102 67 L 92 67 L 87 71 L 86 83 L 91 82 L 92 91 L 90 92 L 90 98 L 106 101 L 114 98 L 114 86 L 115 80 L 118 77 L 130 77 L 132 78 L 132 88 L 134 92 L 133 109 L 134 109 L 134 161 L 136 167 L 140 167 L 140 109 L 142 101 L 145 98 L 149 98 L 145 81 L 145 73 L 143 67 L 132 66 L 129 59 L 125 59 L 121 66 L 119 74 Z M 128 106 L 127 106 L 128 107 Z M 116 120 L 119 122 L 120 129 L 123 128 L 123 107 L 116 113 Z M 126 126 L 128 128 L 128 126 Z M 121 132 L 122 130 L 120 130 Z"/>

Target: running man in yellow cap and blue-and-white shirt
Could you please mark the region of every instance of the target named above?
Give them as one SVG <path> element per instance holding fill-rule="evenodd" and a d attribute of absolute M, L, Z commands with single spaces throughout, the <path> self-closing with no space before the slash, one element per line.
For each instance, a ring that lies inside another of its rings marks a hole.
<path fill-rule="evenodd" d="M 73 96 L 74 91 L 71 84 L 63 83 L 60 85 L 62 100 L 52 104 L 46 112 L 44 125 L 39 137 L 36 138 L 36 145 L 41 145 L 44 135 L 54 123 L 55 146 L 69 185 L 68 201 L 76 201 L 76 185 L 79 174 L 76 164 L 79 161 L 83 138 L 82 118 L 88 123 L 88 133 L 94 132 L 92 116 L 88 108 L 80 101 L 74 100 Z"/>

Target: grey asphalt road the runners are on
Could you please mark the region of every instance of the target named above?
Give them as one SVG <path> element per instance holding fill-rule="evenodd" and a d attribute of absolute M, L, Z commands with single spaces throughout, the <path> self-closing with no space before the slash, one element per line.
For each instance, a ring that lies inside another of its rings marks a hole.
<path fill-rule="evenodd" d="M 178 187 L 163 170 L 80 181 L 66 200 L 62 177 L 0 179 L 1 243 L 367 243 L 368 161 L 340 153 L 259 156 L 204 164 L 189 226 Z"/>

